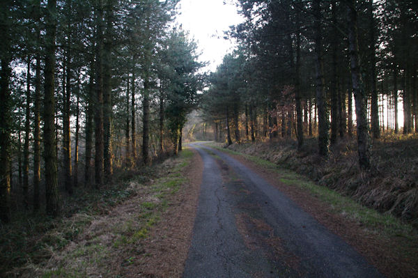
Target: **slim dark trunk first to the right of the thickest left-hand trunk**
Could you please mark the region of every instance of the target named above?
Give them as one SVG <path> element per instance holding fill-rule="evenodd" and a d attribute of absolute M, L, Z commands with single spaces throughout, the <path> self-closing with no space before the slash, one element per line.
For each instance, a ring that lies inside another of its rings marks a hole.
<path fill-rule="evenodd" d="M 69 39 L 70 40 L 70 36 Z M 71 132 L 70 132 L 70 98 L 71 98 L 71 67 L 70 67 L 70 53 L 67 52 L 67 69 L 66 72 L 66 86 L 63 111 L 63 154 L 64 154 L 64 171 L 65 171 L 65 191 L 72 194 L 72 169 L 71 169 Z"/>

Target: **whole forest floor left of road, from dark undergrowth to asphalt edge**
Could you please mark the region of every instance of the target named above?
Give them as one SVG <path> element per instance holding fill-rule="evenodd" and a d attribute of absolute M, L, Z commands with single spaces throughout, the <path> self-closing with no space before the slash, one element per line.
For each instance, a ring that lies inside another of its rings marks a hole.
<path fill-rule="evenodd" d="M 180 277 L 202 163 L 183 150 L 100 191 L 62 219 L 21 217 L 0 229 L 0 277 Z M 82 201 L 80 199 L 83 199 Z"/>

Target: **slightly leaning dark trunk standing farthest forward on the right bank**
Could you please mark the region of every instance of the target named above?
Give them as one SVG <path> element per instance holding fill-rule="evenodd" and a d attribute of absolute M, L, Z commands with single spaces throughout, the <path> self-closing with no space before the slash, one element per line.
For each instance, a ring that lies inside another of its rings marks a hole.
<path fill-rule="evenodd" d="M 357 9 L 355 0 L 347 0 L 348 8 L 348 40 L 350 43 L 351 78 L 355 97 L 355 114 L 357 121 L 357 144 L 359 165 L 362 169 L 370 168 L 370 135 L 366 116 L 366 93 L 360 75 L 359 45 L 357 40 Z"/>

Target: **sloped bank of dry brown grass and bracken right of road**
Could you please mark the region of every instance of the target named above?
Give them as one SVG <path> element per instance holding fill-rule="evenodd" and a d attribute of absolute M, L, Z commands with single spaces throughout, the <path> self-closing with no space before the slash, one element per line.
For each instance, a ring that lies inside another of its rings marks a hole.
<path fill-rule="evenodd" d="M 316 139 L 308 139 L 300 151 L 294 141 L 284 140 L 233 144 L 228 148 L 295 171 L 418 227 L 417 139 L 374 142 L 370 171 L 359 170 L 355 139 L 339 141 L 327 160 L 317 155 Z"/>

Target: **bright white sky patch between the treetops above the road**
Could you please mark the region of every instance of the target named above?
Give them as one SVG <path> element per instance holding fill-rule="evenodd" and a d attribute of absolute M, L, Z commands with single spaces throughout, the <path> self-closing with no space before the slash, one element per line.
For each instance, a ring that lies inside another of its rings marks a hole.
<path fill-rule="evenodd" d="M 225 40 L 224 31 L 229 26 L 242 22 L 237 8 L 231 2 L 224 0 L 180 0 L 180 15 L 178 24 L 189 31 L 190 36 L 197 41 L 201 52 L 201 61 L 210 64 L 205 70 L 215 71 L 222 63 L 224 55 L 233 49 L 233 43 Z"/>

